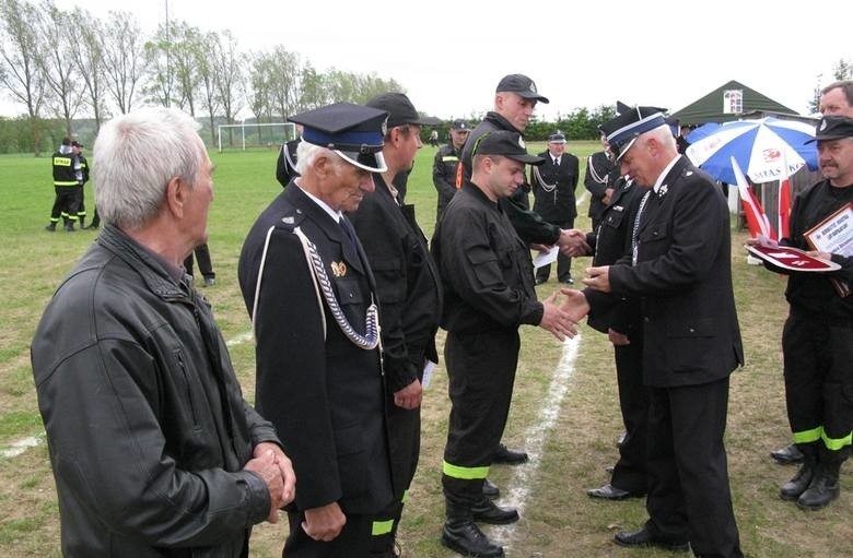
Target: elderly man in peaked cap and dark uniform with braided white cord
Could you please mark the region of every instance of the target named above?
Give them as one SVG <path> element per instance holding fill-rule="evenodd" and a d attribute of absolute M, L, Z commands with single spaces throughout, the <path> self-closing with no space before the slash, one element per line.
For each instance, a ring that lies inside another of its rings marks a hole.
<path fill-rule="evenodd" d="M 300 177 L 260 214 L 239 257 L 256 339 L 256 405 L 299 485 L 288 557 L 366 557 L 392 500 L 376 287 L 343 216 L 373 190 L 387 114 L 339 103 L 304 124 Z"/>

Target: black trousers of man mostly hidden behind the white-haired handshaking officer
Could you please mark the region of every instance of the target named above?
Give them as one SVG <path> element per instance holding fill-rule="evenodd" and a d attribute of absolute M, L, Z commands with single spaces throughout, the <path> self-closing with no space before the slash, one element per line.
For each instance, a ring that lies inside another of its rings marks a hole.
<path fill-rule="evenodd" d="M 619 446 L 619 461 L 610 484 L 629 492 L 648 490 L 646 443 L 648 429 L 648 389 L 643 385 L 642 333 L 632 332 L 629 345 L 614 347 L 616 379 L 619 384 L 619 408 L 626 437 Z"/>

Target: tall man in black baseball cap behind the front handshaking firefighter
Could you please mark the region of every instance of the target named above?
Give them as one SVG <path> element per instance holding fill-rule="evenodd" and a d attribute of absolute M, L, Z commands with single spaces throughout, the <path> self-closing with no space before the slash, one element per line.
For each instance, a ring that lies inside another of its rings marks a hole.
<path fill-rule="evenodd" d="M 549 100 L 548 97 L 539 94 L 536 84 L 528 76 L 511 73 L 501 79 L 494 94 L 494 110 L 486 114 L 486 118 L 477 124 L 463 147 L 464 180 L 471 178 L 471 154 L 480 138 L 495 130 L 515 132 L 524 136 L 524 130 L 527 128 L 538 102 L 547 104 Z M 583 233 L 576 231 L 577 234 L 573 235 L 570 230 L 562 230 L 557 225 L 545 221 L 538 213 L 529 210 L 527 192 L 530 187 L 526 182 L 525 179 L 511 197 L 502 198 L 499 202 L 521 239 L 527 245 L 560 245 L 560 248 L 570 256 L 582 253 L 583 250 L 587 249 Z M 583 246 L 581 246 L 582 244 Z M 569 251 L 572 248 L 577 251 Z M 511 450 L 503 443 L 498 444 L 494 454 L 495 463 L 518 464 L 525 463 L 527 459 L 527 452 Z M 489 486 L 493 487 L 491 484 Z"/>

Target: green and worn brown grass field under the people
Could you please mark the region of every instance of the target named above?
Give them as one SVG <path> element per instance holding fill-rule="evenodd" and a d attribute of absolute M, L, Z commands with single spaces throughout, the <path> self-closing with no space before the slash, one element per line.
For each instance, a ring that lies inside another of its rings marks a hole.
<path fill-rule="evenodd" d="M 597 142 L 570 143 L 580 156 Z M 529 151 L 540 145 L 529 146 Z M 435 217 L 431 181 L 435 150 L 418 155 L 407 200 L 430 237 Z M 210 213 L 210 249 L 217 286 L 203 290 L 226 340 L 246 397 L 254 396 L 254 347 L 241 341 L 249 321 L 236 282 L 243 239 L 256 215 L 281 188 L 274 179 L 276 151 L 212 153 L 215 200 Z M 97 162 L 90 159 L 93 167 Z M 579 194 L 584 192 L 579 188 Z M 93 209 L 91 188 L 86 199 Z M 0 156 L 0 556 L 59 556 L 58 509 L 44 431 L 30 369 L 28 345 L 35 325 L 62 276 L 95 238 L 95 233 L 48 234 L 52 203 L 49 158 Z M 588 228 L 581 204 L 580 228 Z M 733 230 L 733 266 L 746 366 L 732 377 L 726 443 L 735 513 L 747 556 L 756 558 L 853 556 L 853 475 L 842 471 L 841 498 L 826 510 L 806 513 L 778 497 L 794 468 L 774 464 L 772 449 L 786 444 L 780 332 L 787 306 L 784 281 L 745 263 L 746 235 Z M 575 261 L 575 277 L 588 260 Z M 538 287 L 546 296 L 551 282 Z M 299 317 L 295 317 L 299 318 Z M 668 553 L 628 550 L 611 543 L 615 531 L 645 519 L 643 500 L 600 502 L 585 489 L 607 482 L 621 431 L 612 349 L 606 336 L 583 325 L 573 367 L 558 367 L 565 352 L 537 328 L 522 329 L 523 348 L 516 392 L 504 439 L 531 452 L 518 467 L 494 466 L 502 503 L 519 506 L 522 520 L 487 529 L 519 557 L 663 557 Z M 440 339 L 443 342 L 443 335 Z M 439 543 L 444 506 L 441 458 L 447 426 L 446 375 L 439 367 L 423 402 L 423 449 L 400 532 L 405 556 L 456 556 Z M 21 447 L 19 442 L 33 447 Z M 108 443 L 105 440 L 104 443 Z M 117 471 L 116 474 L 121 474 Z M 265 524 L 253 535 L 252 555 L 280 556 L 282 524 Z"/>

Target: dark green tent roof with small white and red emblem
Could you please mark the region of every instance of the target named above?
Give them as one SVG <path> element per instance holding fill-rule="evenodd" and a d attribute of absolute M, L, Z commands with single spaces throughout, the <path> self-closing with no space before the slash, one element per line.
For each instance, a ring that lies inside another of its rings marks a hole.
<path fill-rule="evenodd" d="M 725 107 L 728 107 L 731 110 L 739 108 L 739 110 L 726 111 L 724 110 Z M 705 122 L 729 122 L 732 120 L 738 120 L 744 112 L 752 112 L 756 110 L 783 115 L 797 114 L 796 110 L 791 110 L 786 106 L 780 105 L 756 90 L 732 80 L 670 116 L 677 118 L 682 126 L 703 124 Z"/>

